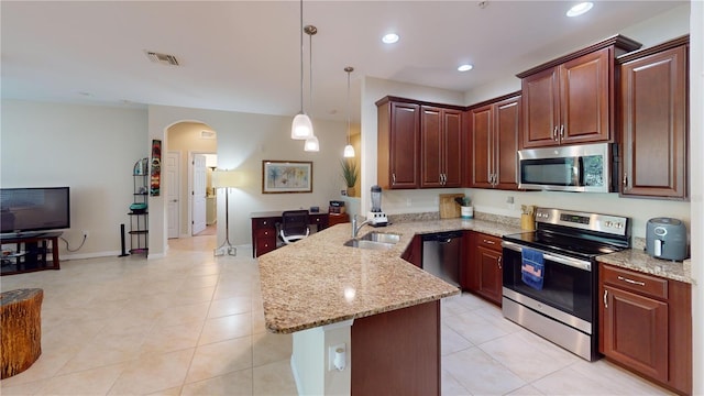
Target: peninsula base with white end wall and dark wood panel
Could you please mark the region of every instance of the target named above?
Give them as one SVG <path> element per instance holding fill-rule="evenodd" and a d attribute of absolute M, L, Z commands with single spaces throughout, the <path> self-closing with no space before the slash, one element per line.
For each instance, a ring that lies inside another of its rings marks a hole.
<path fill-rule="evenodd" d="M 292 369 L 300 395 L 440 395 L 440 300 L 295 332 Z"/>

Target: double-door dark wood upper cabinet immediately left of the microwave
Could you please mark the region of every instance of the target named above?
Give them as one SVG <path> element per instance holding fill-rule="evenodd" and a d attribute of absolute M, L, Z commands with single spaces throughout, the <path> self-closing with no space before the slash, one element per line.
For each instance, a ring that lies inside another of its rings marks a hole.
<path fill-rule="evenodd" d="M 469 110 L 469 186 L 518 188 L 516 151 L 520 133 L 520 95 L 515 92 Z"/>

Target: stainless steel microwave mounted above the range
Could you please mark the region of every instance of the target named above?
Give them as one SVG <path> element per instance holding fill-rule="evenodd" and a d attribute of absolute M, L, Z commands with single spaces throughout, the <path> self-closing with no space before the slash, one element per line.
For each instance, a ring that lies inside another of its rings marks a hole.
<path fill-rule="evenodd" d="M 518 188 L 609 193 L 616 147 L 609 143 L 518 151 Z"/>

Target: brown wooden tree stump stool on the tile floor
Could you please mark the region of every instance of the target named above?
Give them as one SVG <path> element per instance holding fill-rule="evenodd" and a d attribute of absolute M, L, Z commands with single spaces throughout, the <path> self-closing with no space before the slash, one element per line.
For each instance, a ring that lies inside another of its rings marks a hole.
<path fill-rule="evenodd" d="M 42 300 L 40 288 L 0 294 L 1 378 L 28 370 L 42 354 Z"/>

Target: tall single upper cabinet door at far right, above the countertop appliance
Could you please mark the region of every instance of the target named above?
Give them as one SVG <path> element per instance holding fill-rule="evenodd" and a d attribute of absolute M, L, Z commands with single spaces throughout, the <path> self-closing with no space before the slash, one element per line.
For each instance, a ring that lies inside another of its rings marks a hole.
<path fill-rule="evenodd" d="M 620 66 L 622 195 L 686 197 L 686 47 Z"/>

